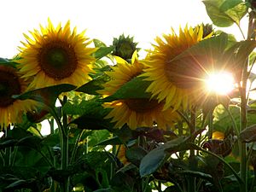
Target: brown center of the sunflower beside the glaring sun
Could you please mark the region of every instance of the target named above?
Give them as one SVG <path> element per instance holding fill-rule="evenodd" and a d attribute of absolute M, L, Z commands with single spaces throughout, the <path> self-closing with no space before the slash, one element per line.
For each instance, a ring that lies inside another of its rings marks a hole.
<path fill-rule="evenodd" d="M 204 67 L 202 67 L 204 66 Z M 195 88 L 202 83 L 206 68 L 201 59 L 183 58 L 181 61 L 166 63 L 166 76 L 170 82 L 182 89 Z"/>

